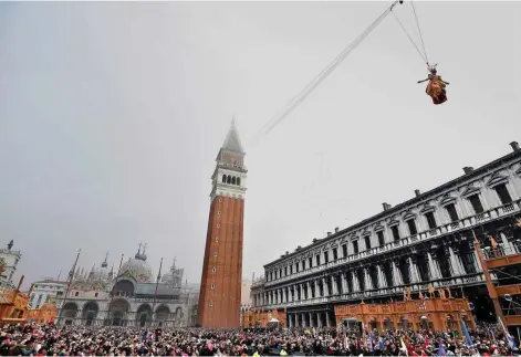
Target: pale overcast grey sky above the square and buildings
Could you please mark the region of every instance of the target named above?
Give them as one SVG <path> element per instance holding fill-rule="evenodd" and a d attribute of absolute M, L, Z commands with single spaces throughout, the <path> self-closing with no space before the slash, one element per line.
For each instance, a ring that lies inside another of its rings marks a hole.
<path fill-rule="evenodd" d="M 417 2 L 426 67 L 389 15 L 259 145 L 251 137 L 389 2 L 0 3 L 0 243 L 19 273 L 116 266 L 148 243 L 200 279 L 215 158 L 248 151 L 243 273 L 521 141 L 521 3 Z M 409 4 L 397 15 L 417 40 Z"/>

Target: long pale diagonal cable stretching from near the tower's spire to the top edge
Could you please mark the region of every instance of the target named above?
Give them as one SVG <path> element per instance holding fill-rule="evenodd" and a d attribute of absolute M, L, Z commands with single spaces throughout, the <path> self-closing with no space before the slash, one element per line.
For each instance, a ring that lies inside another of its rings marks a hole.
<path fill-rule="evenodd" d="M 353 52 L 354 49 L 371 33 L 374 29 L 393 11 L 393 8 L 397 3 L 403 1 L 394 1 L 358 38 L 356 38 L 344 51 L 341 52 L 324 70 L 322 70 L 313 81 L 311 81 L 303 91 L 295 95 L 286 106 L 280 112 L 279 115 L 274 116 L 264 127 L 261 129 L 260 136 L 267 135 L 275 126 L 278 126 L 288 115 L 302 103 L 308 95 L 310 95 L 317 86 L 322 83 L 341 63 L 345 57 Z"/>

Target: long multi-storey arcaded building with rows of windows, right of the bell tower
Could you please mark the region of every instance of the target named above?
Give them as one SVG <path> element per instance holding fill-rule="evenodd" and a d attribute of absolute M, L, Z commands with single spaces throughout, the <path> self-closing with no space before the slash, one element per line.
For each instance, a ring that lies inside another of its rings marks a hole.
<path fill-rule="evenodd" d="M 482 267 L 473 246 L 492 237 L 521 252 L 521 150 L 463 175 L 352 227 L 314 239 L 264 265 L 252 285 L 253 308 L 285 311 L 288 326 L 337 323 L 342 304 L 400 301 L 449 287 L 468 297 L 478 319 L 493 319 Z"/>

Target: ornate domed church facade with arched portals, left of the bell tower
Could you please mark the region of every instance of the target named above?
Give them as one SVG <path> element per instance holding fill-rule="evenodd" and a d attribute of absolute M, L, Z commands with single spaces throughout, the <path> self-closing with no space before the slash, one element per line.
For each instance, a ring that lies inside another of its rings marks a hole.
<path fill-rule="evenodd" d="M 59 302 L 59 325 L 187 327 L 197 306 L 183 286 L 184 270 L 174 263 L 153 281 L 145 249 L 121 264 L 105 261 L 90 272 L 73 269 L 70 286 Z M 161 262 L 163 265 L 163 262 Z"/>

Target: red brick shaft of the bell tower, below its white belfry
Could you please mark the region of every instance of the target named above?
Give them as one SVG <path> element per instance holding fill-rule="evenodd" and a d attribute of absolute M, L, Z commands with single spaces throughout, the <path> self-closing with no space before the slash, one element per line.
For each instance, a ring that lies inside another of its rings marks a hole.
<path fill-rule="evenodd" d="M 216 197 L 211 202 L 197 317 L 204 327 L 240 325 L 243 214 L 241 199 Z"/>

